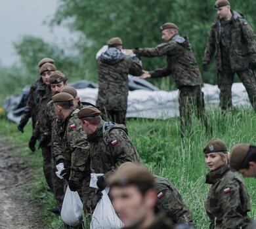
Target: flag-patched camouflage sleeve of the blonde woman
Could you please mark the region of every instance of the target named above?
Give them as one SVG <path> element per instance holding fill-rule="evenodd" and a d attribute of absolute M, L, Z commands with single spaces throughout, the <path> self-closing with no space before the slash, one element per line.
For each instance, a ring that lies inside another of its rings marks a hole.
<path fill-rule="evenodd" d="M 236 181 L 228 183 L 218 193 L 218 199 L 223 212 L 222 229 L 238 228 L 244 226 L 244 210 L 241 203 L 240 184 Z"/>

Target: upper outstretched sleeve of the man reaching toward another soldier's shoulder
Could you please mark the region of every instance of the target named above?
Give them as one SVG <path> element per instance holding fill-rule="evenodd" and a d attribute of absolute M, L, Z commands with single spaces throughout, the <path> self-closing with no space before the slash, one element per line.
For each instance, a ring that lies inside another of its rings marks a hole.
<path fill-rule="evenodd" d="M 157 57 L 164 55 L 171 55 L 172 52 L 175 52 L 176 43 L 162 43 L 156 46 L 156 48 L 137 48 L 133 52 L 139 56 L 146 57 Z"/>

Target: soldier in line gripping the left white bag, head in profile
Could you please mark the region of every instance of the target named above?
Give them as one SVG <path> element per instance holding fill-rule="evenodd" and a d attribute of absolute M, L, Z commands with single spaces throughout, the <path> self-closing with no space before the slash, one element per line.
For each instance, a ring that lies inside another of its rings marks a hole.
<path fill-rule="evenodd" d="M 94 205 L 95 188 L 89 186 L 91 179 L 89 143 L 77 118 L 74 97 L 66 92 L 53 96 L 54 111 L 62 120 L 60 141 L 62 154 L 56 156 L 56 164 L 64 163 L 60 173 L 67 181 L 70 190 L 77 191 L 84 204 L 84 211 L 91 212 Z"/>

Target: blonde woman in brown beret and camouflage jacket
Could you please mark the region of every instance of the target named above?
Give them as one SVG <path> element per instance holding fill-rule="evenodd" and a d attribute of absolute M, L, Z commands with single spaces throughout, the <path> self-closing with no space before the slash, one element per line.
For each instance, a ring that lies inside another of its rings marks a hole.
<path fill-rule="evenodd" d="M 205 163 L 210 172 L 206 175 L 211 185 L 205 210 L 210 229 L 245 228 L 251 222 L 249 195 L 242 180 L 230 170 L 228 149 L 221 139 L 212 139 L 205 149 Z"/>

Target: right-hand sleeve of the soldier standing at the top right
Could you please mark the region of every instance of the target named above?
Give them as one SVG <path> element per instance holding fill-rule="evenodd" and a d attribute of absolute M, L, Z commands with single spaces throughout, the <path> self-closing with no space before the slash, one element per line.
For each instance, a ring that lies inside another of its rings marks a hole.
<path fill-rule="evenodd" d="M 245 43 L 247 43 L 250 61 L 256 62 L 256 41 L 253 29 L 244 19 L 241 20 L 242 35 Z"/>

